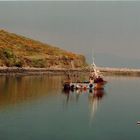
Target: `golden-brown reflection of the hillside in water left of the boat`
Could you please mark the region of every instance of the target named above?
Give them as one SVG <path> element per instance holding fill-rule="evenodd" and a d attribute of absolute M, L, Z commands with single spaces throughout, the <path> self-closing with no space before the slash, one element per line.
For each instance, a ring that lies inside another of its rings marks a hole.
<path fill-rule="evenodd" d="M 56 94 L 60 76 L 0 76 L 0 107 Z"/>

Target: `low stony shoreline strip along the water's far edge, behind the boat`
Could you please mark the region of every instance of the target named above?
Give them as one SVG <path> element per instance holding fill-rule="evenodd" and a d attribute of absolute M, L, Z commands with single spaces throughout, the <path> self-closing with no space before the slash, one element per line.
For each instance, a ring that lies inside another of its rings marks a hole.
<path fill-rule="evenodd" d="M 140 69 L 128 69 L 128 68 L 108 68 L 98 67 L 100 72 L 106 75 L 120 75 L 120 76 L 140 76 Z M 90 69 L 85 68 L 33 68 L 33 67 L 0 67 L 0 75 L 63 75 L 63 74 L 87 74 Z"/>

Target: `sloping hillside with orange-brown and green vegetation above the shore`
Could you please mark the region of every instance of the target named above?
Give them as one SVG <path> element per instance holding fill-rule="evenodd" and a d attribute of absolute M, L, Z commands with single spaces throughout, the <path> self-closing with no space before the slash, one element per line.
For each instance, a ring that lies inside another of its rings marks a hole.
<path fill-rule="evenodd" d="M 78 68 L 85 57 L 0 30 L 0 66 L 38 68 Z"/>

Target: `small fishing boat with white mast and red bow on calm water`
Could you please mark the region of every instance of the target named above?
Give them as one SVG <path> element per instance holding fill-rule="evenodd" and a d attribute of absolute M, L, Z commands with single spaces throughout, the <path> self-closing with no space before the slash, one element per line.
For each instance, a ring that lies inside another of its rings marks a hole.
<path fill-rule="evenodd" d="M 84 82 L 71 82 L 70 76 L 69 80 L 64 82 L 64 90 L 74 90 L 74 89 L 104 89 L 104 85 L 107 81 L 104 80 L 103 75 L 97 69 L 97 66 L 93 63 L 90 66 L 89 80 Z"/>

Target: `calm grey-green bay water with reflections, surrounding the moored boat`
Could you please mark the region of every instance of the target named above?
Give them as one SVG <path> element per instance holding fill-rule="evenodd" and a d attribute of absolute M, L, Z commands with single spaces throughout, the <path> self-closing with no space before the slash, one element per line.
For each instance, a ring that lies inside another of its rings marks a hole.
<path fill-rule="evenodd" d="M 140 139 L 140 78 L 63 92 L 60 76 L 0 77 L 1 140 Z"/>

